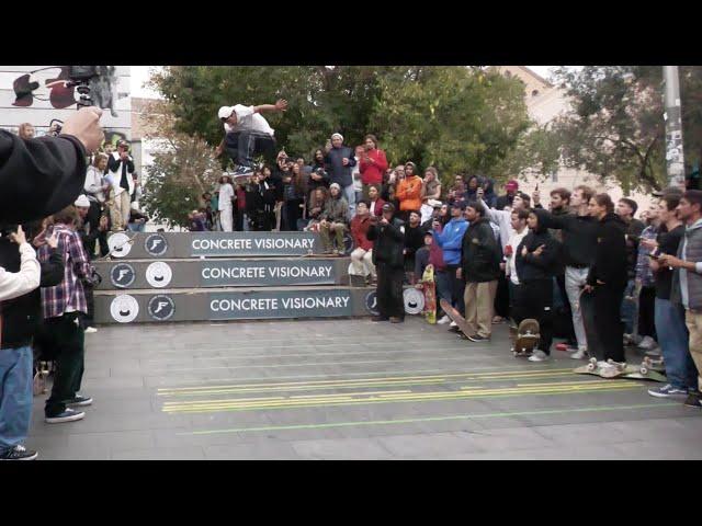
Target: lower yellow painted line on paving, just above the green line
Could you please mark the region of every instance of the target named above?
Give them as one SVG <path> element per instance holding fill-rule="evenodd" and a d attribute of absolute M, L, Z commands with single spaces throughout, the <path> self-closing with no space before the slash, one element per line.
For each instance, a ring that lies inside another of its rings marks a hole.
<path fill-rule="evenodd" d="M 327 407 L 327 405 L 343 405 L 343 404 L 363 404 L 373 402 L 401 402 L 401 401 L 432 401 L 432 400 L 450 400 L 450 399 L 466 399 L 466 398 L 482 398 L 490 396 L 517 396 L 517 395 L 557 395 L 557 393 L 574 393 L 574 392 L 591 392 L 591 391 L 615 391 L 635 389 L 639 386 L 636 384 L 622 384 L 622 385 L 582 385 L 582 386 L 565 386 L 565 387 L 542 387 L 542 388 L 507 388 L 507 389 L 480 389 L 480 390 L 465 390 L 465 391 L 441 391 L 430 393 L 406 393 L 395 395 L 387 397 L 369 397 L 364 399 L 330 399 L 330 398 L 317 398 L 307 400 L 282 400 L 276 402 L 253 402 L 248 403 L 246 400 L 234 401 L 229 403 L 203 403 L 200 405 L 172 405 L 163 408 L 163 411 L 172 412 L 217 412 L 217 411 L 242 411 L 253 409 L 285 409 L 294 407 Z"/>

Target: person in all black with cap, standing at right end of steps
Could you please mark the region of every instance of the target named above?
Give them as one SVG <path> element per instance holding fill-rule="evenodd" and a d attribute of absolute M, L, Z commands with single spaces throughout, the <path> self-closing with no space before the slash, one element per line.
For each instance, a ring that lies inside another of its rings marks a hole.
<path fill-rule="evenodd" d="M 367 239 L 374 241 L 373 264 L 377 272 L 377 310 L 373 321 L 401 323 L 405 321 L 405 302 L 403 301 L 403 276 L 405 256 L 405 224 L 393 218 L 395 206 L 383 205 L 383 217 L 373 218 Z"/>

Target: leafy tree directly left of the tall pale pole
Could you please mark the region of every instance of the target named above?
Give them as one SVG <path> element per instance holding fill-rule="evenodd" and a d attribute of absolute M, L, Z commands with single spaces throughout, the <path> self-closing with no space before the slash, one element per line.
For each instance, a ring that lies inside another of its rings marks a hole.
<path fill-rule="evenodd" d="M 564 162 L 615 179 L 625 193 L 659 190 L 666 181 L 660 67 L 559 68 L 555 77 L 573 106 L 553 127 Z"/>

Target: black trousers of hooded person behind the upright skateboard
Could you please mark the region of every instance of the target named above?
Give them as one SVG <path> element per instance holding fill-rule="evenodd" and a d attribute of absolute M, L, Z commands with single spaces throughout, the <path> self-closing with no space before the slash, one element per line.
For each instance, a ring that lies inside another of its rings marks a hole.
<path fill-rule="evenodd" d="M 514 287 L 514 323 L 526 318 L 539 322 L 539 348 L 551 354 L 553 343 L 553 279 L 532 279 Z"/>

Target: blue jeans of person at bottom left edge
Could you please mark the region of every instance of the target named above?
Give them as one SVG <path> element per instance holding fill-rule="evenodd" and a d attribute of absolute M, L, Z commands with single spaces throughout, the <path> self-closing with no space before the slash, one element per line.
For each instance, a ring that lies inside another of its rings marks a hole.
<path fill-rule="evenodd" d="M 0 451 L 23 444 L 32 420 L 32 347 L 0 350 Z"/>

